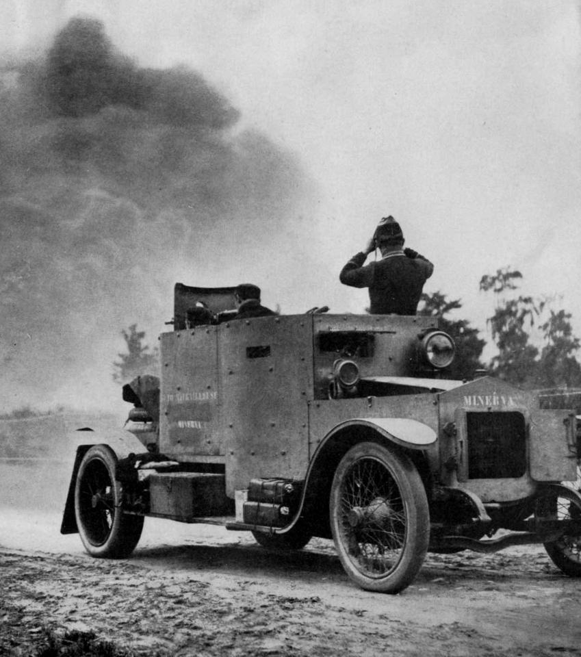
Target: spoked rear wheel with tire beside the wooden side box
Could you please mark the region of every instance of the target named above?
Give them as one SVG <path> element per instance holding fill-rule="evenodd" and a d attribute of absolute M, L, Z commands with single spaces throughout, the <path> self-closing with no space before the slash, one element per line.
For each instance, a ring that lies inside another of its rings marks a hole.
<path fill-rule="evenodd" d="M 116 463 L 110 448 L 96 445 L 83 457 L 75 482 L 77 528 L 85 550 L 95 557 L 125 558 L 141 537 L 143 516 L 122 511 Z"/>

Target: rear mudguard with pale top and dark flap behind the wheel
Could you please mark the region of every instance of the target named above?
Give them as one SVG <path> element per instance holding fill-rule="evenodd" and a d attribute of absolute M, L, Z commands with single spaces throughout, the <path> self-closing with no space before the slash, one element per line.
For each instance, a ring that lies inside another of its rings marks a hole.
<path fill-rule="evenodd" d="M 70 434 L 70 443 L 77 443 L 77 454 L 64 504 L 64 513 L 60 526 L 61 534 L 77 534 L 79 532 L 75 517 L 75 483 L 77 481 L 79 466 L 88 450 L 94 445 L 107 445 L 113 450 L 117 459 L 125 459 L 131 452 L 140 454 L 144 451 L 142 443 L 132 433 L 122 429 L 118 430 L 118 432 L 108 430 L 107 433 L 93 431 L 88 427 L 77 429 Z"/>

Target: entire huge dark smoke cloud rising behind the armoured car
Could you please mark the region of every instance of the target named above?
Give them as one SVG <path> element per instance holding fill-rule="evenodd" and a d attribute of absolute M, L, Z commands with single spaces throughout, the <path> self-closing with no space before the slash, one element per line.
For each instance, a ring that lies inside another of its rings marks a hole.
<path fill-rule="evenodd" d="M 309 183 L 200 73 L 140 68 L 90 18 L 0 81 L 1 404 L 86 403 L 122 328 L 164 329 L 180 263 L 239 282 Z"/>

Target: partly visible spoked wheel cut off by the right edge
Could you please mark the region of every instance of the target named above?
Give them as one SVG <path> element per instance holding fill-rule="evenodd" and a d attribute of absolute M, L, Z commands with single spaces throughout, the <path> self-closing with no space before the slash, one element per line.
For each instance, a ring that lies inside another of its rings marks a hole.
<path fill-rule="evenodd" d="M 541 536 L 551 532 L 560 534 L 554 541 L 544 543 L 552 562 L 566 575 L 581 577 L 580 495 L 565 487 L 552 487 L 537 500 L 534 517 Z"/>

